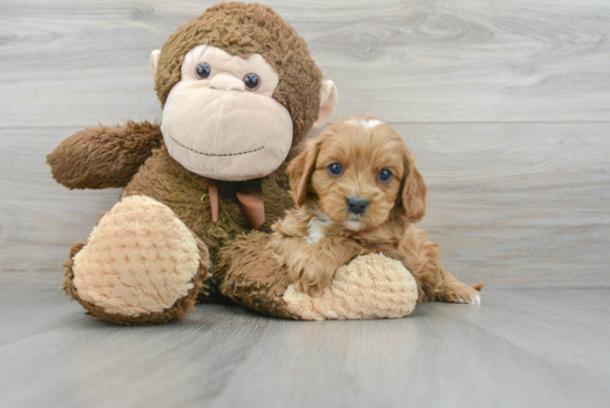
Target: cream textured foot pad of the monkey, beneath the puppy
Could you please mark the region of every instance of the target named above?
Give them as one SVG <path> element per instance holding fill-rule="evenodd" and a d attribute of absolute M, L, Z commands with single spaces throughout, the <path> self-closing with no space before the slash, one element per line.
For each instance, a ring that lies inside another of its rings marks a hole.
<path fill-rule="evenodd" d="M 415 308 L 417 284 L 400 262 L 364 255 L 337 269 L 319 297 L 289 285 L 284 302 L 306 320 L 403 317 Z"/>

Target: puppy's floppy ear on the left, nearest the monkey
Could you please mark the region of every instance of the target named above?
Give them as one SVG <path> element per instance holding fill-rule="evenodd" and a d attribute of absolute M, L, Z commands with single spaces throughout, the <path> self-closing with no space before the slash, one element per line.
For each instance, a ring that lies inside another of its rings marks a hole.
<path fill-rule="evenodd" d="M 301 152 L 288 166 L 291 194 L 297 207 L 302 206 L 307 201 L 307 186 L 309 185 L 309 178 L 316 166 L 316 159 L 323 139 L 325 139 L 323 134 L 315 139 L 309 139 L 303 152 Z"/>

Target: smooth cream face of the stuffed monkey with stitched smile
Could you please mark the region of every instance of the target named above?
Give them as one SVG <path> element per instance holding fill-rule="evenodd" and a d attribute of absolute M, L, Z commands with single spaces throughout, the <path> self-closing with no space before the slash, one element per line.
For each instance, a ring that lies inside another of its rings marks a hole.
<path fill-rule="evenodd" d="M 215 180 L 273 173 L 293 142 L 291 114 L 273 99 L 278 83 L 261 54 L 243 59 L 216 47 L 195 47 L 184 57 L 182 79 L 163 109 L 161 130 L 170 155 Z"/>

